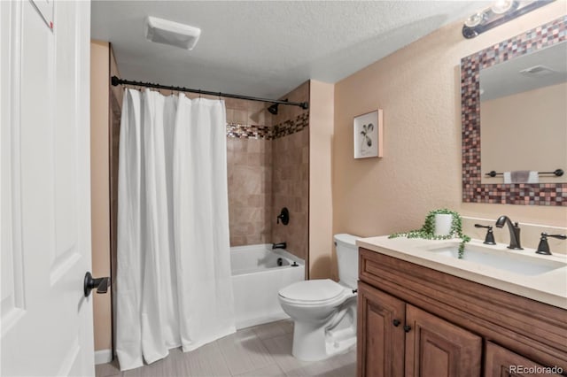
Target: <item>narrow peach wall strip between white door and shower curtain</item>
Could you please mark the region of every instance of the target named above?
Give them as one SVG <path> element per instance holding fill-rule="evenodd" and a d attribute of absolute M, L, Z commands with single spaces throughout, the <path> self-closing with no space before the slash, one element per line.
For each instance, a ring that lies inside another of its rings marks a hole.
<path fill-rule="evenodd" d="M 109 88 L 110 45 L 90 43 L 90 192 L 92 274 L 110 276 Z M 95 350 L 112 348 L 110 290 L 93 293 Z"/>

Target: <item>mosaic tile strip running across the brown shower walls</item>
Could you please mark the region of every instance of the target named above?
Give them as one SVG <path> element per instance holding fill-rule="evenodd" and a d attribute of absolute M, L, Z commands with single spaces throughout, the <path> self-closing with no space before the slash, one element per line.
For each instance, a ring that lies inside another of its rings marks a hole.
<path fill-rule="evenodd" d="M 227 137 L 273 140 L 295 134 L 307 126 L 309 126 L 309 112 L 304 112 L 296 119 L 286 120 L 273 127 L 229 123 L 227 124 Z"/>

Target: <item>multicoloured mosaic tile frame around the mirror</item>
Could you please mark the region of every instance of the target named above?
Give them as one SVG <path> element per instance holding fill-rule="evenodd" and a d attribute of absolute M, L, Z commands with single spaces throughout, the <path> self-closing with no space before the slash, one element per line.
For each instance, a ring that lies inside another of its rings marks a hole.
<path fill-rule="evenodd" d="M 567 16 L 478 51 L 461 60 L 462 201 L 567 205 L 567 183 L 482 184 L 480 170 L 480 69 L 567 40 Z"/>

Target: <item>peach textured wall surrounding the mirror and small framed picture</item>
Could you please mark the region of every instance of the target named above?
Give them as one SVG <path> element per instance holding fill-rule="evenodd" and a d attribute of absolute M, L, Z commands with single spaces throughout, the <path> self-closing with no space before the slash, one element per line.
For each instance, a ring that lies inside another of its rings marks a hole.
<path fill-rule="evenodd" d="M 557 1 L 472 40 L 462 37 L 457 22 L 339 81 L 333 233 L 413 229 L 439 207 L 477 218 L 508 214 L 520 223 L 567 227 L 567 207 L 462 203 L 460 104 L 461 58 L 565 13 L 565 2 Z M 377 108 L 384 109 L 384 158 L 354 160 L 353 117 Z"/>

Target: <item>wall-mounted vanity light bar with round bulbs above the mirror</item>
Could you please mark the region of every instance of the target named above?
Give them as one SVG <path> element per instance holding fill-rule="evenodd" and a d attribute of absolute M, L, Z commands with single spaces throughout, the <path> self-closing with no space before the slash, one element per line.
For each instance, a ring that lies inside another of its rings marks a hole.
<path fill-rule="evenodd" d="M 497 27 L 510 19 L 532 12 L 543 5 L 554 2 L 555 0 L 497 0 L 490 7 L 482 12 L 477 12 L 464 21 L 462 26 L 462 35 L 465 38 L 474 38 L 475 36 Z M 561 0 L 563 1 L 563 0 Z"/>

